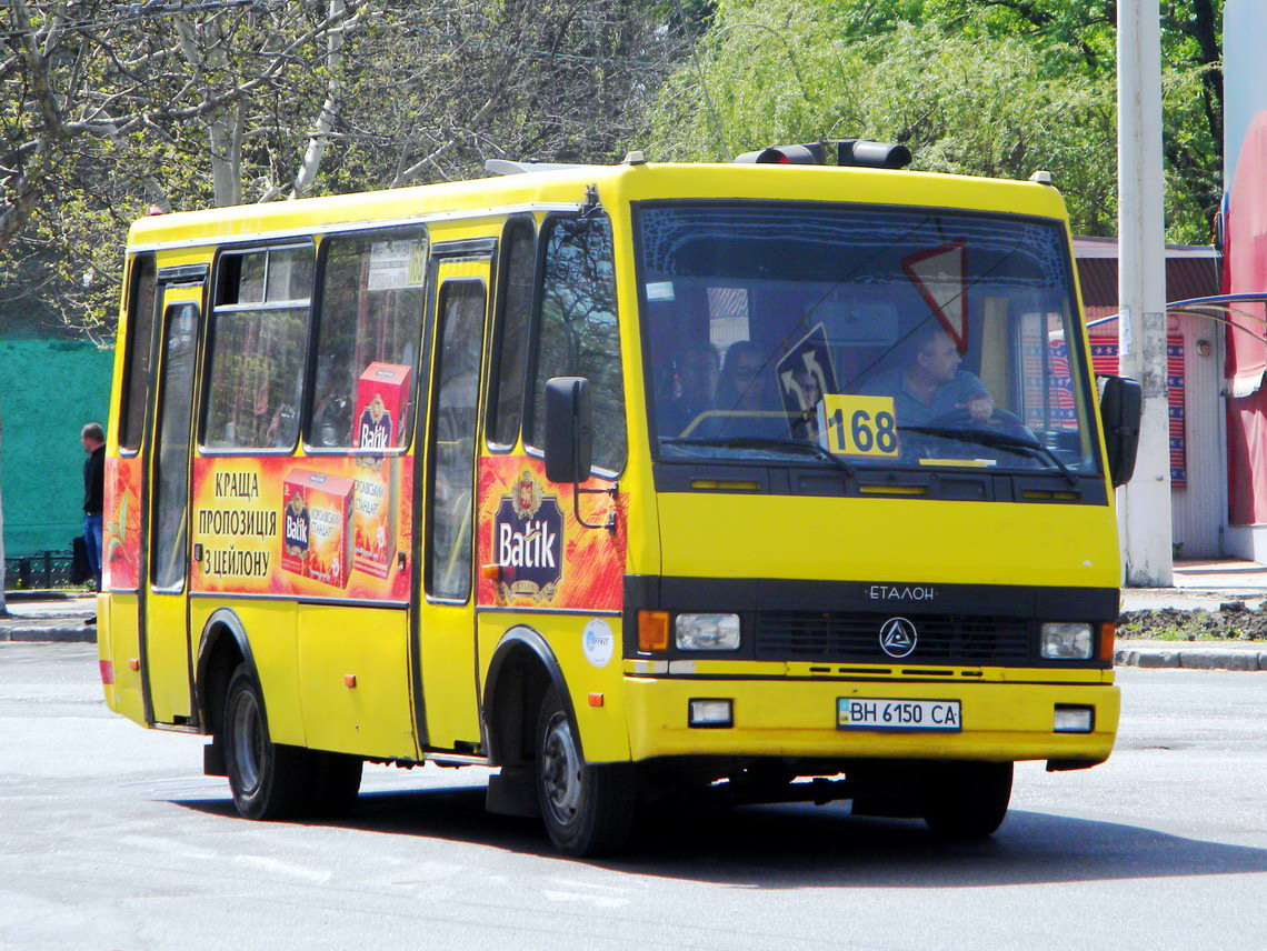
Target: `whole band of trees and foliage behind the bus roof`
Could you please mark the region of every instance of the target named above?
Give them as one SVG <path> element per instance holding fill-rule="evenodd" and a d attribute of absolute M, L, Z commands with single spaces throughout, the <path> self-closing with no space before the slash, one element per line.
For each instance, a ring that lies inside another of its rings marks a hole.
<path fill-rule="evenodd" d="M 18 296 L 98 339 L 131 220 L 286 198 L 305 166 L 315 195 L 473 177 L 488 157 L 729 160 L 865 135 L 906 142 L 922 168 L 1048 168 L 1074 228 L 1114 230 L 1114 0 L 5 9 L 22 29 L 4 41 L 0 166 L 22 175 L 0 177 L 0 308 Z M 76 28 L 53 28 L 67 11 Z M 351 18 L 337 39 L 336 14 Z M 1221 14 L 1162 4 L 1172 241 L 1206 241 L 1219 204 Z M 28 38 L 43 71 L 19 54 Z"/>

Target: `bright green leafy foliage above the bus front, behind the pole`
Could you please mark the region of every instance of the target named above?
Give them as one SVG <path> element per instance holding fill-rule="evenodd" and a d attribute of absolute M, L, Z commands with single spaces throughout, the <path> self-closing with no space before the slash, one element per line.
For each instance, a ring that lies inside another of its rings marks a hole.
<path fill-rule="evenodd" d="M 1111 0 L 720 0 L 651 111 L 658 157 L 896 141 L 919 168 L 1053 173 L 1078 233 L 1116 227 Z M 1221 0 L 1164 4 L 1168 238 L 1209 241 L 1220 196 Z M 1215 51 L 1216 52 L 1216 51 Z"/>

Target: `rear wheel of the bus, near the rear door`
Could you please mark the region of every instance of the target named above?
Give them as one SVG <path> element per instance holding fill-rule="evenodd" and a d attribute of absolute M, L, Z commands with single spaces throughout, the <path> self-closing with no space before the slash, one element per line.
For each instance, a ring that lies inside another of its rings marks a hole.
<path fill-rule="evenodd" d="M 264 691 L 246 665 L 229 677 L 220 723 L 226 772 L 238 814 L 247 819 L 304 814 L 310 800 L 313 753 L 269 740 Z"/>

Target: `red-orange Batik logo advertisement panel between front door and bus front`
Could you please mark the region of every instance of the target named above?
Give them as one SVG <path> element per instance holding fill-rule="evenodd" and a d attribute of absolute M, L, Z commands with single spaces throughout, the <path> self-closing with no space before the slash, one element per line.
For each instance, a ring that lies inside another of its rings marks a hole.
<path fill-rule="evenodd" d="M 606 489 L 593 479 L 585 488 Z M 625 577 L 625 498 L 547 482 L 545 463 L 493 456 L 479 469 L 479 603 L 518 608 L 618 610 Z M 604 526 L 614 515 L 614 531 Z"/>

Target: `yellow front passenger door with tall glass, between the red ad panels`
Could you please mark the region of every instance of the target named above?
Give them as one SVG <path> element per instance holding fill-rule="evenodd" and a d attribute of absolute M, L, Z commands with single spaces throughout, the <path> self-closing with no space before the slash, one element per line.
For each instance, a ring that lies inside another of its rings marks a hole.
<path fill-rule="evenodd" d="M 423 748 L 474 751 L 480 745 L 475 688 L 474 526 L 480 357 L 488 313 L 492 247 L 481 257 L 446 260 L 432 249 L 436 291 L 423 477 L 422 591 L 417 645 Z M 419 432 L 422 427 L 419 427 Z"/>

